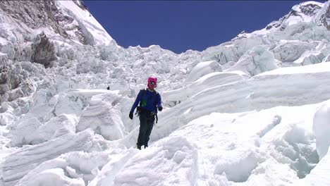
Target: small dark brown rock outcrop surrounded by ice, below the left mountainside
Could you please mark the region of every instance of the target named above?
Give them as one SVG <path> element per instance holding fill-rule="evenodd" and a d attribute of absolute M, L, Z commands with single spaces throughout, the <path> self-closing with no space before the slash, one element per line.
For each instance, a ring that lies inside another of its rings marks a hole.
<path fill-rule="evenodd" d="M 48 68 L 51 67 L 52 62 L 56 60 L 55 46 L 44 33 L 37 36 L 31 48 L 31 61 L 34 63 L 40 63 L 44 65 L 45 68 Z"/>

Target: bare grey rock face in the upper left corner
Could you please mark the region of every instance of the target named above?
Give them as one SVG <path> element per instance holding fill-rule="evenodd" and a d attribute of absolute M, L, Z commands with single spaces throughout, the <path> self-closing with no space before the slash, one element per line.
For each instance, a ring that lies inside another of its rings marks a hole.
<path fill-rule="evenodd" d="M 82 1 L 74 1 L 78 6 L 85 8 Z M 56 6 L 55 0 L 47 1 L 11 1 L 1 0 L 0 9 L 9 17 L 16 20 L 18 25 L 24 23 L 27 27 L 37 29 L 40 27 L 51 27 L 54 32 L 66 39 L 77 39 L 85 44 L 85 36 L 80 27 L 73 23 L 73 18 L 62 13 Z M 68 35 L 67 31 L 75 31 L 75 36 Z M 75 37 L 75 38 L 73 38 Z"/>

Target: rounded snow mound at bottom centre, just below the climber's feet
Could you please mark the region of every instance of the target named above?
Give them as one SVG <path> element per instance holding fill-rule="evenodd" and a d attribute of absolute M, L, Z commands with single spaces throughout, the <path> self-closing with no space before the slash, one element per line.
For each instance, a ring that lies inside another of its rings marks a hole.
<path fill-rule="evenodd" d="M 104 185 L 194 185 L 197 157 L 196 147 L 184 137 L 164 139 L 133 156 L 123 166 L 125 171 Z"/>

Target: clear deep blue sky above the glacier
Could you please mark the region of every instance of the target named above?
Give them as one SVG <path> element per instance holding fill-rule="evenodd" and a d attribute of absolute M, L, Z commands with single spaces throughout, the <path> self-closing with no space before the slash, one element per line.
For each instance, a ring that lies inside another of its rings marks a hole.
<path fill-rule="evenodd" d="M 202 51 L 286 15 L 302 1 L 85 1 L 116 42 Z"/>

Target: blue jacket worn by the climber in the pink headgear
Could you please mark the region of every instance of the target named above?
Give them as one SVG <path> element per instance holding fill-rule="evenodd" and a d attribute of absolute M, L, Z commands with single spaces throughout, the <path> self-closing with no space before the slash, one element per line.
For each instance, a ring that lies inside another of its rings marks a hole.
<path fill-rule="evenodd" d="M 161 108 L 161 96 L 156 91 L 150 91 L 147 89 L 145 92 L 145 89 L 141 89 L 138 97 L 136 97 L 135 102 L 132 106 L 132 109 L 130 109 L 130 112 L 134 112 L 135 108 L 138 107 L 138 104 L 140 103 L 140 106 L 147 110 L 152 111 L 154 113 L 157 113 L 157 107 Z M 144 95 L 143 95 L 144 94 Z"/>

